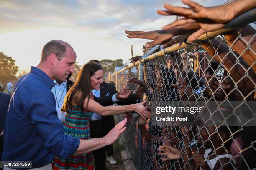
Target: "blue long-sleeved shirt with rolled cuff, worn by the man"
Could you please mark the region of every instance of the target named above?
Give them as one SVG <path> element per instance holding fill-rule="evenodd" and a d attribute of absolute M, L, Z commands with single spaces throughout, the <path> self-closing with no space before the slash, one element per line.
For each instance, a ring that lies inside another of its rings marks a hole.
<path fill-rule="evenodd" d="M 67 158 L 76 152 L 80 141 L 64 135 L 53 85 L 36 67 L 15 85 L 5 119 L 3 161 L 32 161 L 32 168 L 38 168 L 51 163 L 54 155 Z"/>

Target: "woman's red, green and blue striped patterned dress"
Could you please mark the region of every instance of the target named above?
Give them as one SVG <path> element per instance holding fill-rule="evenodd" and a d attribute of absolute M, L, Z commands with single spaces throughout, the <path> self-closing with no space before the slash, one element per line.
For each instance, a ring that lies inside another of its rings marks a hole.
<path fill-rule="evenodd" d="M 65 135 L 70 135 L 79 139 L 90 139 L 89 118 L 93 112 L 79 111 L 79 106 L 72 106 L 67 110 L 64 121 Z M 54 170 L 93 170 L 92 152 L 83 155 L 72 155 L 68 159 L 61 159 L 59 156 L 54 157 Z"/>

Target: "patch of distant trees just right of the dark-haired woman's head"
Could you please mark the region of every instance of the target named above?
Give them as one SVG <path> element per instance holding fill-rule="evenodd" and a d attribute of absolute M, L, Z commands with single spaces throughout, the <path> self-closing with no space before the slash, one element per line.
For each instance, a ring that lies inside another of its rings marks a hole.
<path fill-rule="evenodd" d="M 117 59 L 117 60 L 109 60 L 109 59 L 103 59 L 100 60 L 102 70 L 104 74 L 106 74 L 109 71 L 114 71 L 115 67 L 121 67 L 123 66 L 123 60 Z"/>

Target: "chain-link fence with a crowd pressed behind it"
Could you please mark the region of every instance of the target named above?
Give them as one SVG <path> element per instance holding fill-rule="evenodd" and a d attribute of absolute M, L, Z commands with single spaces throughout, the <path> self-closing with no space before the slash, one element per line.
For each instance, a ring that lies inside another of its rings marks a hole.
<path fill-rule="evenodd" d="M 133 77 L 148 87 L 143 99 L 154 110 L 152 118 L 133 114 L 125 132 L 138 169 L 256 169 L 255 29 L 246 25 L 206 36 L 195 44 L 159 48 L 111 76 L 118 91 L 136 90 L 138 85 L 127 84 Z M 157 120 L 168 112 L 158 114 L 157 107 L 166 105 L 189 105 L 189 112 L 176 114 L 187 120 Z M 200 106 L 202 112 L 191 110 Z M 165 161 L 158 154 L 163 144 L 173 147 L 173 157 L 181 151 L 179 158 Z"/>

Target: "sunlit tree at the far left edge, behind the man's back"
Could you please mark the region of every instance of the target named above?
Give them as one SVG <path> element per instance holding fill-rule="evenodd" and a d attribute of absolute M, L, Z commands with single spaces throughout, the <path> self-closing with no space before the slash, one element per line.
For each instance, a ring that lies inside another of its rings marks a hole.
<path fill-rule="evenodd" d="M 15 75 L 18 72 L 18 68 L 12 57 L 8 57 L 3 52 L 0 52 L 0 80 L 3 84 L 6 84 L 8 80 L 16 80 Z"/>

